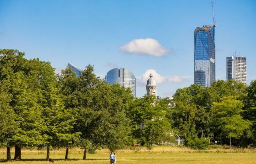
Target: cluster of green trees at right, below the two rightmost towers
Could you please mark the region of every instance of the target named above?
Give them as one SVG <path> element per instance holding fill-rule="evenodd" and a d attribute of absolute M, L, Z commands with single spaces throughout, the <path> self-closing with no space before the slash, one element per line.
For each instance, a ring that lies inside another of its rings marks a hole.
<path fill-rule="evenodd" d="M 178 89 L 173 97 L 172 127 L 189 145 L 203 129 L 203 137 L 221 144 L 256 145 L 256 80 L 248 87 L 218 80 L 211 87 L 191 85 Z"/>

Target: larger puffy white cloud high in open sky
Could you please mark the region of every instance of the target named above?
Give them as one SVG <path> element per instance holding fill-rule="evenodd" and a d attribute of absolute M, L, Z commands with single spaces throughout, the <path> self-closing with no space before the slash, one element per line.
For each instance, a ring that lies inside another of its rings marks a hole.
<path fill-rule="evenodd" d="M 120 47 L 120 50 L 131 54 L 153 56 L 164 56 L 170 51 L 152 38 L 133 39 L 131 42 Z"/>

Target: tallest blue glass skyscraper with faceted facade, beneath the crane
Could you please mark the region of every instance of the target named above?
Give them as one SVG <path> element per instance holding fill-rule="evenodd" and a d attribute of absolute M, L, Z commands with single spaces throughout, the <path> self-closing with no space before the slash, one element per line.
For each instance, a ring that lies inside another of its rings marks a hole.
<path fill-rule="evenodd" d="M 194 83 L 209 87 L 215 81 L 215 25 L 195 32 Z"/>

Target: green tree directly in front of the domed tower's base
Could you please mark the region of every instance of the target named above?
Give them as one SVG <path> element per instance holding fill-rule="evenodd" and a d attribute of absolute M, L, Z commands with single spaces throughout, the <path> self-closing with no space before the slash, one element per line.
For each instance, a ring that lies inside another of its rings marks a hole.
<path fill-rule="evenodd" d="M 166 117 L 169 104 L 163 104 L 161 100 L 154 101 L 153 96 L 145 95 L 136 98 L 127 112 L 133 136 L 147 145 L 147 149 L 151 149 L 154 143 L 165 141 L 172 134 Z"/>

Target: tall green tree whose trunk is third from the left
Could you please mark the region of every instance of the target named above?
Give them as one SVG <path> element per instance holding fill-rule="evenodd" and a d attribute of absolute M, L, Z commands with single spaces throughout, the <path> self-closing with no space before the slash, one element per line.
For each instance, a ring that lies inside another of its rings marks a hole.
<path fill-rule="evenodd" d="M 33 59 L 30 66 L 34 67 L 33 73 L 39 77 L 36 84 L 40 90 L 38 104 L 42 107 L 41 117 L 45 124 L 41 135 L 44 137 L 44 144 L 47 145 L 46 160 L 48 161 L 50 147 L 60 147 L 65 143 L 66 138 L 74 137 L 74 134 L 69 132 L 73 129 L 72 124 L 75 118 L 69 109 L 64 108 L 57 77 L 50 63 Z"/>

